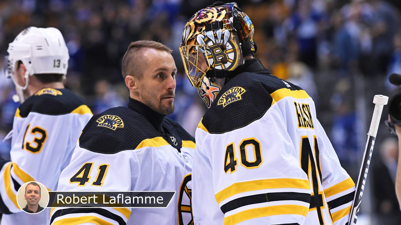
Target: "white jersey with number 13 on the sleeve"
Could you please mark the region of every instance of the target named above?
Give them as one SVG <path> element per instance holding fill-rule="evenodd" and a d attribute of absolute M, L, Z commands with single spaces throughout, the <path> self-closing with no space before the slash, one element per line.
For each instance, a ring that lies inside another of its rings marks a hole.
<path fill-rule="evenodd" d="M 32 215 L 22 212 L 17 191 L 29 181 L 54 191 L 91 117 L 81 98 L 67 89 L 43 88 L 18 107 L 11 131 L 11 161 L 0 161 L 1 225 L 50 223 L 50 209 Z"/>

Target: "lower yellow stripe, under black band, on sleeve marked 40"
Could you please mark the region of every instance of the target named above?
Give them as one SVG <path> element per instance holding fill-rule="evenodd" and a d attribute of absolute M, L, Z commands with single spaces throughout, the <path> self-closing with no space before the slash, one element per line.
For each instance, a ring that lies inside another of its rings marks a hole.
<path fill-rule="evenodd" d="M 241 223 L 248 219 L 255 219 L 259 217 L 268 217 L 272 215 L 286 215 L 297 214 L 306 216 L 308 214 L 308 207 L 301 205 L 273 205 L 261 207 L 256 209 L 247 209 L 234 215 L 224 218 L 224 225 L 232 225 Z"/>

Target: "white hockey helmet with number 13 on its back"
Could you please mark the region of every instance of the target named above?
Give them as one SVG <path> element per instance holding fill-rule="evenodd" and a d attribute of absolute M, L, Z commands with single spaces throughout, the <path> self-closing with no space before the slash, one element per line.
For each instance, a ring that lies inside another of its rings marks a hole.
<path fill-rule="evenodd" d="M 20 102 L 24 102 L 23 90 L 28 87 L 29 76 L 33 74 L 67 74 L 69 54 L 63 35 L 57 28 L 37 28 L 22 30 L 8 45 L 8 56 L 4 62 L 6 77 L 12 78 Z M 20 86 L 15 78 L 18 62 L 21 61 L 26 72 L 25 85 Z"/>

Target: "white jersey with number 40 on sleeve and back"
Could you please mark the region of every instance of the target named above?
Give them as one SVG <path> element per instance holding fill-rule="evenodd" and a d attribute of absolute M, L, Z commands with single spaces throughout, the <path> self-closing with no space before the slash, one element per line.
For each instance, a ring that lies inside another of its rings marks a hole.
<path fill-rule="evenodd" d="M 196 129 L 195 225 L 345 225 L 355 185 L 314 102 L 252 60 Z"/>

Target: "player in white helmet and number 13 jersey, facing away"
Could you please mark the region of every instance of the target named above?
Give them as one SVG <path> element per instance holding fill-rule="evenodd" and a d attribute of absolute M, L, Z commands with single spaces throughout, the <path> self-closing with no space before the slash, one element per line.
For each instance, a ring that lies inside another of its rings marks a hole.
<path fill-rule="evenodd" d="M 17 191 L 28 181 L 56 189 L 92 112 L 79 96 L 64 88 L 69 54 L 59 30 L 26 28 L 7 52 L 6 75 L 14 81 L 22 104 L 7 135 L 12 137 L 11 161 L 0 159 L 1 225 L 49 224 L 50 209 L 35 215 L 22 212 Z"/>

